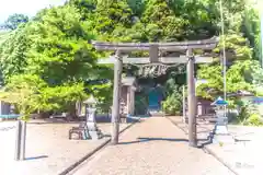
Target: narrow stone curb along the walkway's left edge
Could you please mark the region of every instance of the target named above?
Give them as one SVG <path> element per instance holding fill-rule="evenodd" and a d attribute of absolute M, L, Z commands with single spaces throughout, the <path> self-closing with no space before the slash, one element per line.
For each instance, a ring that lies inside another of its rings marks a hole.
<path fill-rule="evenodd" d="M 139 121 L 140 119 L 138 119 Z M 137 124 L 138 121 L 132 122 L 129 125 L 127 125 L 126 127 L 124 127 L 121 131 L 119 135 L 123 133 L 124 131 L 126 131 L 127 129 L 129 129 L 132 126 L 134 126 L 135 124 Z M 71 164 L 69 167 L 65 168 L 61 173 L 59 173 L 58 175 L 67 175 L 68 173 L 70 173 L 72 170 L 75 170 L 77 166 L 79 166 L 81 163 L 83 163 L 85 160 L 88 160 L 89 158 L 91 158 L 92 155 L 94 155 L 98 151 L 100 151 L 101 149 L 103 149 L 104 147 L 106 147 L 111 141 L 111 138 L 106 139 L 104 142 L 102 142 L 100 145 L 98 145 L 94 150 L 90 151 L 89 153 L 87 153 L 83 158 L 81 158 L 79 161 L 75 162 L 73 164 Z"/>

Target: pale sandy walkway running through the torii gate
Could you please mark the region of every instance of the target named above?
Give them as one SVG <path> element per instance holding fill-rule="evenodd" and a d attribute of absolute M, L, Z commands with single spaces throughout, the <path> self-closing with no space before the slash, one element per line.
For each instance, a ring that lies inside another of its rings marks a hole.
<path fill-rule="evenodd" d="M 77 167 L 73 175 L 232 175 L 214 156 L 190 148 L 185 133 L 164 117 L 151 117 Z"/>

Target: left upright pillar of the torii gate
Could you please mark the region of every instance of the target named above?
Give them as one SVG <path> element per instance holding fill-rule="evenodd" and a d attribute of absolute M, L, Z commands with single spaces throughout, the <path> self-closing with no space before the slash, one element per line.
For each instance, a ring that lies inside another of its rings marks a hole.
<path fill-rule="evenodd" d="M 122 90 L 122 70 L 123 60 L 119 50 L 115 55 L 114 65 L 114 84 L 113 84 L 113 108 L 112 108 L 112 140 L 111 143 L 118 143 L 118 132 L 119 132 L 119 101 L 121 101 L 121 90 Z"/>

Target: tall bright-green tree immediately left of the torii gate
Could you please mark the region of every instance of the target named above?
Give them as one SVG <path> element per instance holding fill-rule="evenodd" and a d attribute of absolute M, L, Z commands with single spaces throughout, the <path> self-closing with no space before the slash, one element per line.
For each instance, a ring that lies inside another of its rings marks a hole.
<path fill-rule="evenodd" d="M 48 91 L 55 91 L 47 94 L 59 94 L 55 97 L 61 101 L 61 107 L 68 108 L 71 115 L 77 102 L 72 97 L 76 90 L 80 93 L 89 89 L 89 93 L 98 95 L 103 94 L 104 90 L 108 91 L 107 85 L 98 85 L 96 89 L 94 85 L 83 86 L 84 81 L 112 75 L 107 68 L 96 65 L 100 55 L 88 43 L 94 38 L 89 28 L 81 21 L 79 10 L 70 4 L 49 9 L 41 21 L 30 26 L 33 44 L 25 71 L 45 80 L 49 85 Z M 80 101 L 83 95 L 76 97 Z"/>

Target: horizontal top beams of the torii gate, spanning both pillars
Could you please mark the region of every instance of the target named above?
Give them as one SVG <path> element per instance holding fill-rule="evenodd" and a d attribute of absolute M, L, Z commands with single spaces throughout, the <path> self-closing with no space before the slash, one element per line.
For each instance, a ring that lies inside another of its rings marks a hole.
<path fill-rule="evenodd" d="M 172 43 L 110 43 L 93 40 L 96 50 L 114 50 L 115 56 L 107 59 L 100 59 L 99 63 L 114 63 L 116 56 L 122 58 L 123 63 L 186 63 L 187 58 L 193 56 L 192 49 L 211 50 L 218 44 L 218 37 L 214 36 L 209 39 L 188 40 L 188 42 L 172 42 Z M 127 58 L 123 54 L 142 50 L 149 51 L 149 57 Z M 186 57 L 161 57 L 160 51 L 184 51 Z M 195 56 L 196 63 L 213 62 L 211 57 Z"/>

